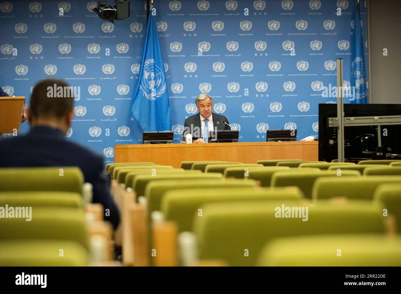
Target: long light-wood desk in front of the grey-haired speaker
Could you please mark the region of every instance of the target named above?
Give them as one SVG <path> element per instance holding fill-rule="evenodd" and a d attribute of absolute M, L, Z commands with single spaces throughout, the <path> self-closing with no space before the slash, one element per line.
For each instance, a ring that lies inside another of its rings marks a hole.
<path fill-rule="evenodd" d="M 154 162 L 180 167 L 181 161 L 221 160 L 256 163 L 262 159 L 318 160 L 318 141 L 209 144 L 115 145 L 115 162 Z"/>

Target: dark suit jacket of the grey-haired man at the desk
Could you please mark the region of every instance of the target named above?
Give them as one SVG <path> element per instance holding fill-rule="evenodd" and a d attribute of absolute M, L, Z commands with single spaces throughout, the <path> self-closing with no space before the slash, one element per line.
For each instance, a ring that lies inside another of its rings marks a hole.
<path fill-rule="evenodd" d="M 213 128 L 217 131 L 229 130 L 230 127 L 224 122 L 228 122 L 227 117 L 221 114 L 212 112 Z M 212 131 L 212 130 L 209 130 Z M 186 134 L 192 134 L 192 141 L 203 138 L 201 127 L 201 114 L 199 112 L 195 115 L 188 117 L 184 122 L 184 135 L 182 141 L 185 141 Z"/>

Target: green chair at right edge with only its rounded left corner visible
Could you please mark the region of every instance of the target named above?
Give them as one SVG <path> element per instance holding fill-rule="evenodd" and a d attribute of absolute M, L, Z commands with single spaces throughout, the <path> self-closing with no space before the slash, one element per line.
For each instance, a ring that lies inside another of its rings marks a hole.
<path fill-rule="evenodd" d="M 377 186 L 373 201 L 395 217 L 398 233 L 401 233 L 401 183 Z M 400 263 L 401 264 L 401 263 Z"/>

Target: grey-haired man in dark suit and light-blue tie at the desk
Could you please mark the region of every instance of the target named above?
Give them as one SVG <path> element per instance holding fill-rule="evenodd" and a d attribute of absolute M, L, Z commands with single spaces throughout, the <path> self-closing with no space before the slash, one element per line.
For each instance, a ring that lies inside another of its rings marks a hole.
<path fill-rule="evenodd" d="M 212 112 L 213 98 L 206 93 L 199 94 L 195 100 L 199 113 L 188 117 L 184 122 L 184 139 L 192 134 L 192 143 L 208 143 L 209 131 L 230 130 L 227 117 Z"/>

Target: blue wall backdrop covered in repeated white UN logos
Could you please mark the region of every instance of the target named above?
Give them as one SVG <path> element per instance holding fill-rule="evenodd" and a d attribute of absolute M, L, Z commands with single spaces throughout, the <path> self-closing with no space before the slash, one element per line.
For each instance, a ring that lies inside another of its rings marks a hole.
<path fill-rule="evenodd" d="M 109 163 L 114 145 L 142 143 L 131 104 L 146 1 L 131 0 L 131 17 L 114 24 L 99 19 L 95 5 L 0 2 L 0 86 L 27 98 L 45 78 L 79 87 L 67 139 L 103 153 Z M 242 142 L 265 141 L 267 129 L 316 136 L 318 104 L 336 101 L 322 92 L 336 85 L 337 58 L 344 59 L 344 86 L 350 85 L 355 7 L 356 0 L 155 1 L 174 141 L 184 119 L 196 113 L 201 92 L 214 98 L 214 112 L 227 116 Z M 360 8 L 367 60 L 366 1 Z M 21 133 L 28 129 L 24 123 Z"/>

